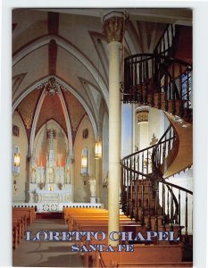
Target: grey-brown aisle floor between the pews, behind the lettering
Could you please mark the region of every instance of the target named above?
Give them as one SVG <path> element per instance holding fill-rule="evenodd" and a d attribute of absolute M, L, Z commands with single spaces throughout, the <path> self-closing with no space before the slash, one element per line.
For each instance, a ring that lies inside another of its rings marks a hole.
<path fill-rule="evenodd" d="M 40 230 L 67 230 L 62 219 L 37 219 L 27 230 L 36 234 Z M 84 267 L 77 253 L 71 253 L 70 242 L 21 241 L 13 250 L 13 266 L 29 267 Z"/>

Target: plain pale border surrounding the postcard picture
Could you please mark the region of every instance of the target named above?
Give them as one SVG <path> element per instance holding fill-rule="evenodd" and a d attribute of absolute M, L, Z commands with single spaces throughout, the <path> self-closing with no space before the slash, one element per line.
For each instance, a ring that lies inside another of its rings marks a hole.
<path fill-rule="evenodd" d="M 0 18 L 1 91 L 0 91 L 0 266 L 12 265 L 12 8 L 81 8 L 81 7 L 186 7 L 194 12 L 194 267 L 207 267 L 207 49 L 208 3 L 207 1 L 90 1 L 84 0 L 2 0 Z M 3 193 L 4 192 L 4 193 Z M 10 213 L 8 213 L 10 212 Z"/>

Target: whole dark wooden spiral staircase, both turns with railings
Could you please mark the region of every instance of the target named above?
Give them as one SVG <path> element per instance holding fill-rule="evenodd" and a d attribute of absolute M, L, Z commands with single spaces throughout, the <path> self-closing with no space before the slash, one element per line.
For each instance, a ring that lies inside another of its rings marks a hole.
<path fill-rule="evenodd" d="M 177 40 L 169 24 L 154 54 L 125 59 L 123 103 L 161 109 L 170 126 L 156 145 L 121 160 L 121 210 L 145 230 L 174 230 L 191 260 L 193 192 L 168 181 L 192 166 L 192 65 L 175 57 Z"/>

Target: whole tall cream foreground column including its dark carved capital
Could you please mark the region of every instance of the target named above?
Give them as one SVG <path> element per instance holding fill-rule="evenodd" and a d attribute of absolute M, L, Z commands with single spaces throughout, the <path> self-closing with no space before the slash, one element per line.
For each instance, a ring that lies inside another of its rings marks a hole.
<path fill-rule="evenodd" d="M 104 32 L 109 50 L 109 180 L 108 232 L 120 230 L 120 171 L 121 171 L 121 97 L 120 51 L 123 37 L 123 14 L 104 16 Z M 109 240 L 116 246 L 118 241 Z"/>

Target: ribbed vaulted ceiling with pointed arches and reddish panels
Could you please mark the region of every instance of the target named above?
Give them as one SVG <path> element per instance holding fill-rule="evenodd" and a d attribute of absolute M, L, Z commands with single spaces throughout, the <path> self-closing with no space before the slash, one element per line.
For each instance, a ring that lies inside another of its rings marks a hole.
<path fill-rule="evenodd" d="M 125 56 L 152 53 L 168 22 L 165 11 L 144 10 L 146 17 L 141 11 L 129 10 Z M 12 11 L 12 104 L 28 137 L 34 126 L 37 133 L 50 119 L 67 134 L 69 118 L 71 130 L 76 131 L 86 113 L 98 132 L 100 105 L 107 110 L 108 104 L 108 48 L 102 13 L 93 9 Z M 188 20 L 188 13 L 177 14 L 175 22 L 183 16 Z M 122 59 L 121 54 L 121 70 Z M 52 77 L 57 89 L 54 96 L 46 90 Z M 43 90 L 46 96 L 41 96 Z"/>

